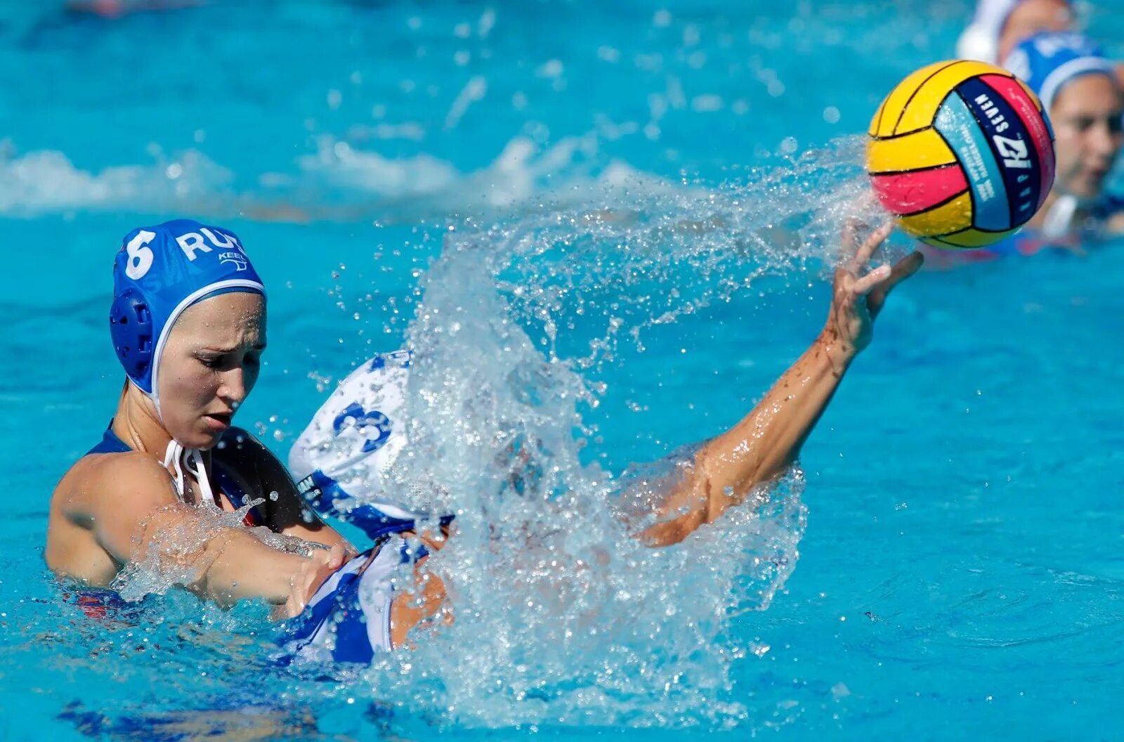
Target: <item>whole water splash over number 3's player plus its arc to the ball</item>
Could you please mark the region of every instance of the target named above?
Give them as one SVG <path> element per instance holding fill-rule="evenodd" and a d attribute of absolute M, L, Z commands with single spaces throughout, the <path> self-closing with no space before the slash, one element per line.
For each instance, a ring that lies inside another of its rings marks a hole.
<path fill-rule="evenodd" d="M 674 548 L 634 534 L 638 499 L 687 449 L 623 477 L 587 463 L 597 377 L 620 337 L 832 257 L 859 205 L 854 141 L 716 191 L 602 193 L 596 203 L 453 232 L 407 332 L 409 446 L 396 497 L 455 513 L 429 560 L 451 626 L 368 676 L 377 697 L 442 724 L 728 727 L 747 709 L 729 621 L 769 606 L 798 558 L 798 471 Z M 825 183 L 828 186 L 825 188 Z M 813 200 L 810 193 L 827 193 Z M 438 711 L 439 709 L 439 711 Z"/>

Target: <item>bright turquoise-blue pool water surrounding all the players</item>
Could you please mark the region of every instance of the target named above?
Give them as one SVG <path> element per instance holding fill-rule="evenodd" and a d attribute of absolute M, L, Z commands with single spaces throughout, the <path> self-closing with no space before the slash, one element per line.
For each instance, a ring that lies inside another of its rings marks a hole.
<path fill-rule="evenodd" d="M 701 534 L 673 570 L 609 574 L 606 612 L 641 606 L 637 624 L 678 626 L 667 644 L 568 657 L 549 622 L 483 609 L 497 564 L 465 561 L 448 635 L 475 644 L 283 670 L 259 609 L 173 591 L 91 619 L 43 564 L 49 492 L 120 388 L 105 310 L 130 227 L 196 216 L 252 251 L 270 351 L 239 417 L 279 453 L 334 380 L 443 337 L 434 307 L 469 307 L 492 329 L 437 344 L 447 369 L 500 387 L 564 362 L 527 381 L 536 429 L 570 435 L 546 413 L 592 390 L 572 408 L 588 445 L 553 462 L 586 491 L 597 467 L 736 422 L 815 336 L 830 233 L 861 187 L 847 137 L 951 54 L 967 2 L 30 4 L 0 11 L 0 736 L 1118 732 L 1120 245 L 905 284 L 777 513 Z M 1124 15 L 1088 22 L 1124 45 Z M 769 246 L 778 225 L 805 247 Z M 537 349 L 522 365 L 497 350 L 509 326 Z M 584 516 L 580 548 L 614 537 Z M 774 552 L 773 572 L 738 561 Z"/>

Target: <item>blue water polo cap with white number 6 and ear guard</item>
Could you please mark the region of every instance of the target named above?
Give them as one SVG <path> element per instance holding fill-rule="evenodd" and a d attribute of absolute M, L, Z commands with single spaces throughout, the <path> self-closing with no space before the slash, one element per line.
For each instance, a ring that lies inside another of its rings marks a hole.
<path fill-rule="evenodd" d="M 197 301 L 232 291 L 265 296 L 233 232 L 175 219 L 125 235 L 114 261 L 109 329 L 133 383 L 155 400 L 158 359 L 172 325 Z"/>

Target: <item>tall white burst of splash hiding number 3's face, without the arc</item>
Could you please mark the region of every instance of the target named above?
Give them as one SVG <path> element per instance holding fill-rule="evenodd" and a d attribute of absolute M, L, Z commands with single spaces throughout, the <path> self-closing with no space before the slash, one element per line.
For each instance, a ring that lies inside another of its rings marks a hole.
<path fill-rule="evenodd" d="M 755 577 L 768 605 L 795 563 L 799 487 L 774 495 L 783 526 L 743 510 L 678 548 L 641 545 L 614 478 L 580 460 L 580 408 L 596 396 L 509 319 L 474 253 L 447 253 L 428 274 L 410 333 L 410 446 L 395 472 L 414 500 L 457 514 L 432 562 L 455 623 L 419 640 L 397 682 L 377 676 L 377 693 L 472 725 L 738 718 L 724 698 L 736 653 L 726 614 Z M 451 284 L 464 289 L 435 288 Z M 754 576 L 754 564 L 768 567 Z"/>

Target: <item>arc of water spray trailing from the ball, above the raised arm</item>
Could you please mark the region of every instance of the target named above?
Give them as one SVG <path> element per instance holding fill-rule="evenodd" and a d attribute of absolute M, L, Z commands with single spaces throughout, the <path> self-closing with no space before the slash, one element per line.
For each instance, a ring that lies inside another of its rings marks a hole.
<path fill-rule="evenodd" d="M 538 209 L 472 237 L 473 260 L 552 361 L 592 369 L 622 336 L 643 351 L 647 329 L 834 265 L 846 218 L 885 218 L 867 198 L 863 146 L 841 138 L 717 188 L 624 178 L 541 194 Z"/>

